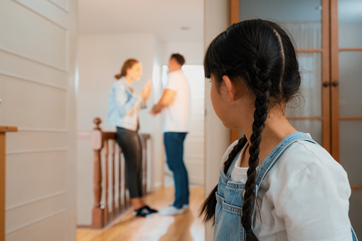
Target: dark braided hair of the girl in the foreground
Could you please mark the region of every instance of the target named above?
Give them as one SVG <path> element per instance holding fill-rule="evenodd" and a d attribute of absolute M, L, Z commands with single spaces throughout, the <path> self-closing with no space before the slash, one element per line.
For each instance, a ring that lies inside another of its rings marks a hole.
<path fill-rule="evenodd" d="M 250 136 L 250 158 L 245 183 L 243 216 L 246 240 L 258 240 L 252 232 L 252 210 L 255 207 L 256 168 L 259 165 L 260 141 L 270 107 L 281 105 L 294 97 L 300 86 L 300 74 L 294 46 L 287 33 L 277 23 L 262 19 L 241 21 L 220 33 L 209 45 L 204 60 L 205 76 L 215 78 L 220 87 L 223 75 L 233 85 L 243 83 L 255 95 L 254 122 Z M 238 141 L 224 164 L 227 173 L 238 152 L 245 146 L 245 136 Z M 215 223 L 215 186 L 201 206 L 204 221 Z M 240 197 L 241 198 L 241 197 Z"/>

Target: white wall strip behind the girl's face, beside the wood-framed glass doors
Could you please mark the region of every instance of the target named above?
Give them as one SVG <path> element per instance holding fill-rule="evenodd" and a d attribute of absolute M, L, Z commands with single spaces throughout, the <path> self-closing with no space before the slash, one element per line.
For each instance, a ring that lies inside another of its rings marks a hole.
<path fill-rule="evenodd" d="M 228 28 L 229 1 L 205 0 L 205 46 L 213 41 L 220 32 Z M 220 176 L 220 160 L 230 144 L 230 131 L 223 127 L 211 104 L 211 85 L 205 81 L 206 104 L 206 197 L 218 183 Z M 206 240 L 213 240 L 213 227 L 206 225 Z"/>

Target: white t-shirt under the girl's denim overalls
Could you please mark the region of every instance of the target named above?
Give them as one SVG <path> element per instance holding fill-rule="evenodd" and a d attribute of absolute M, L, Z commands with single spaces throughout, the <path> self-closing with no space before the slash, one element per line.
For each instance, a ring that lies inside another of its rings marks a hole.
<path fill-rule="evenodd" d="M 237 143 L 229 146 L 223 162 Z M 230 176 L 236 183 L 247 180 L 247 168 L 240 167 L 245 148 Z M 259 240 L 351 241 L 351 186 L 344 168 L 324 148 L 309 141 L 294 142 L 279 159 L 257 195 L 253 229 Z"/>

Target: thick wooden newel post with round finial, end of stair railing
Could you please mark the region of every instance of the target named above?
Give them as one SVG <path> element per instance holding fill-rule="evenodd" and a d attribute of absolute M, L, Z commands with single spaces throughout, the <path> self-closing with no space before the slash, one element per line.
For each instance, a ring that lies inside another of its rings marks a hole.
<path fill-rule="evenodd" d="M 100 205 L 100 199 L 102 196 L 102 166 L 100 163 L 101 156 L 100 152 L 102 150 L 102 130 L 100 129 L 100 123 L 102 120 L 100 118 L 95 118 L 93 123 L 96 124 L 95 129 L 92 130 L 90 136 L 90 142 L 94 154 L 94 169 L 93 169 L 93 193 L 95 203 L 92 209 L 92 227 L 101 228 L 104 225 L 103 222 L 103 210 Z"/>

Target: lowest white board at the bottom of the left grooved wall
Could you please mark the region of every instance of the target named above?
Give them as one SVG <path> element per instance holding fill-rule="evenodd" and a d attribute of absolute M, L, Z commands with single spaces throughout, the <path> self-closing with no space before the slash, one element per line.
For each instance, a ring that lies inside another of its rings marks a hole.
<path fill-rule="evenodd" d="M 43 220 L 34 220 L 33 224 L 21 230 L 6 234 L 6 241 L 64 241 L 66 213 L 58 212 Z"/>

